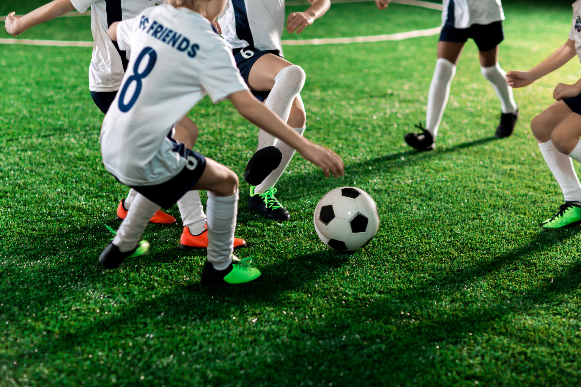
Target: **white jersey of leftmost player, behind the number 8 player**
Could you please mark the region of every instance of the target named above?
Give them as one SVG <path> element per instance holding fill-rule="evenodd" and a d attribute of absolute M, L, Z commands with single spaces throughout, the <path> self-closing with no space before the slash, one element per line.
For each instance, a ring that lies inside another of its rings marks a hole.
<path fill-rule="evenodd" d="M 91 7 L 93 57 L 89 66 L 89 90 L 117 91 L 125 71 L 129 53 L 119 52 L 107 36 L 113 22 L 130 19 L 142 10 L 154 6 L 155 0 L 71 0 L 74 8 L 84 13 Z M 121 57 L 123 56 L 123 59 Z"/>

